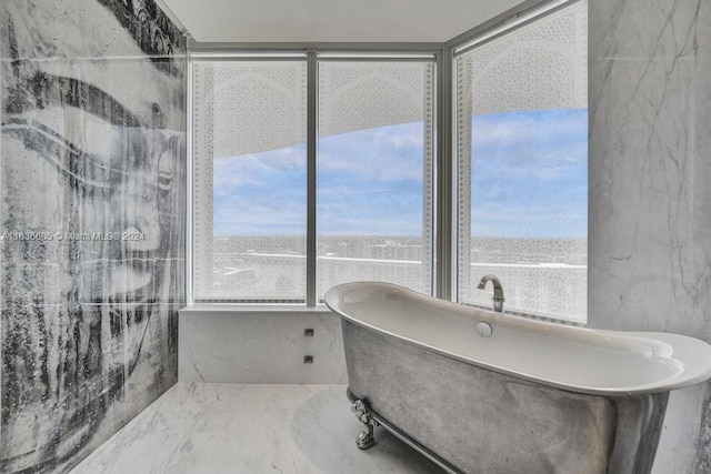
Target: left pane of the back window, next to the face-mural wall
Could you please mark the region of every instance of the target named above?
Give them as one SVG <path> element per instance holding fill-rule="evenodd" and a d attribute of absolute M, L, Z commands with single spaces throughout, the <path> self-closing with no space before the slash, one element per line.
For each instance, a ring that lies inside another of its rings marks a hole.
<path fill-rule="evenodd" d="M 193 65 L 193 292 L 306 297 L 306 62 Z"/>

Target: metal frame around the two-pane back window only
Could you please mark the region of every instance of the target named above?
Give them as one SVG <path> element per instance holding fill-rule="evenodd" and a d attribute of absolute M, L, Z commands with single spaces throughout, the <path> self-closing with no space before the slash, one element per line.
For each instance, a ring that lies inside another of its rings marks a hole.
<path fill-rule="evenodd" d="M 434 168 L 434 179 L 431 183 L 432 201 L 438 202 L 437 177 L 440 159 L 440 141 L 442 123 L 440 113 L 439 81 L 441 74 L 442 46 L 432 43 L 413 44 L 189 44 L 188 51 L 188 94 L 187 94 L 187 128 L 188 128 L 188 239 L 187 239 L 187 295 L 189 305 L 203 304 L 230 304 L 236 307 L 248 306 L 273 306 L 273 309 L 291 310 L 304 306 L 307 309 L 318 309 L 323 306 L 319 301 L 317 290 L 317 266 L 318 266 L 318 230 L 317 230 L 317 145 L 318 145 L 318 67 L 319 61 L 431 61 L 434 68 L 434 80 L 432 85 L 433 95 L 433 134 L 434 144 L 432 150 L 432 168 Z M 193 64 L 199 61 L 259 61 L 284 59 L 306 59 L 307 62 L 307 226 L 306 226 L 306 300 L 261 300 L 261 299 L 196 299 L 194 295 L 194 148 L 193 148 Z M 427 185 L 427 183 L 425 183 Z M 434 220 L 437 220 L 435 213 Z M 429 265 L 432 269 L 430 282 L 430 294 L 435 294 L 435 256 L 437 246 L 437 222 L 432 222 L 433 245 L 429 255 Z"/>

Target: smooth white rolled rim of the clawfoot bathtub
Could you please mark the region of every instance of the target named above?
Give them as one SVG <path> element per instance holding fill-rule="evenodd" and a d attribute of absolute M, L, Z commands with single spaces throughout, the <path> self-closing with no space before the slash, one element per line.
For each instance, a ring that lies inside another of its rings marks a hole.
<path fill-rule="evenodd" d="M 341 294 L 347 294 L 347 293 L 343 293 L 344 291 L 350 290 L 350 292 L 352 292 L 358 290 L 364 290 L 368 288 L 370 289 L 380 288 L 381 290 L 390 290 L 390 291 L 404 293 L 408 297 L 413 297 L 415 299 L 415 301 L 420 303 L 432 305 L 433 307 L 440 311 L 450 311 L 450 310 L 463 311 L 463 313 L 453 314 L 453 316 L 461 316 L 461 317 L 471 319 L 472 321 L 487 322 L 489 324 L 492 324 L 492 326 L 494 327 L 497 325 L 518 326 L 523 330 L 547 332 L 549 334 L 562 333 L 563 335 L 578 336 L 578 337 L 581 337 L 582 340 L 587 340 L 588 337 L 592 337 L 593 335 L 601 336 L 601 337 L 609 337 L 612 340 L 612 342 L 614 342 L 617 339 L 620 339 L 620 337 L 651 340 L 651 341 L 658 341 L 658 342 L 662 342 L 671 345 L 674 349 L 673 353 L 679 354 L 674 359 L 681 360 L 681 362 L 684 363 L 684 366 L 688 366 L 685 362 L 689 362 L 689 360 L 694 360 L 694 359 L 701 360 L 705 357 L 705 360 L 709 360 L 710 363 L 707 364 L 705 369 L 702 369 L 702 367 L 692 367 L 693 370 L 685 369 L 684 371 L 674 373 L 668 377 L 655 380 L 654 382 L 651 382 L 651 383 L 628 385 L 628 386 L 600 387 L 600 386 L 590 386 L 590 385 L 582 385 L 582 384 L 574 384 L 574 383 L 564 383 L 564 382 L 559 382 L 554 380 L 543 379 L 540 376 L 534 376 L 534 375 L 527 374 L 512 369 L 495 365 L 493 363 L 477 361 L 468 356 L 460 355 L 458 353 L 433 346 L 425 342 L 393 333 L 392 331 L 388 331 L 374 324 L 363 322 L 356 316 L 347 314 L 346 312 L 341 311 L 338 307 L 339 296 Z M 580 326 L 573 326 L 573 325 L 567 325 L 567 324 L 560 324 L 560 323 L 553 323 L 553 322 L 547 322 L 547 321 L 539 321 L 533 319 L 527 319 L 519 315 L 495 313 L 493 311 L 480 309 L 477 306 L 470 306 L 461 303 L 454 303 L 451 301 L 435 299 L 433 296 L 425 295 L 423 293 L 417 292 L 405 286 L 401 286 L 394 283 L 385 283 L 385 282 L 360 281 L 360 282 L 342 283 L 339 285 L 334 285 L 333 288 L 329 289 L 326 292 L 323 301 L 331 311 L 333 311 L 339 316 L 353 322 L 354 324 L 368 327 L 373 331 L 378 331 L 380 333 L 388 334 L 390 336 L 405 341 L 410 344 L 424 347 L 429 351 L 432 351 L 434 353 L 441 354 L 443 356 L 447 356 L 457 361 L 461 361 L 468 364 L 473 364 L 479 367 L 491 370 L 493 372 L 502 373 L 505 375 L 515 376 L 522 380 L 537 383 L 539 385 L 555 387 L 558 390 L 563 390 L 568 392 L 581 393 L 581 394 L 588 394 L 588 395 L 610 396 L 610 397 L 650 395 L 650 394 L 670 392 L 672 390 L 684 389 L 711 379 L 711 345 L 709 345 L 708 343 L 699 339 L 687 336 L 687 335 L 664 333 L 664 332 L 598 330 L 598 329 L 580 327 Z M 474 314 L 477 314 L 478 316 L 474 316 Z M 700 354 L 703 355 L 703 357 Z"/>

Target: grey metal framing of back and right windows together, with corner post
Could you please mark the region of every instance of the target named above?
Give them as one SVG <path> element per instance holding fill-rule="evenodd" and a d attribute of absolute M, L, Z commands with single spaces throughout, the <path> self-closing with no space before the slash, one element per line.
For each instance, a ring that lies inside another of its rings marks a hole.
<path fill-rule="evenodd" d="M 455 56 L 461 54 L 465 49 L 514 31 L 518 27 L 524 26 L 549 12 L 577 3 L 582 0 L 525 0 L 522 3 L 504 11 L 503 13 L 465 31 L 442 43 L 200 43 L 192 38 L 188 38 L 188 91 L 186 94 L 187 110 L 187 143 L 189 170 L 188 191 L 188 219 L 187 219 L 187 297 L 191 306 L 210 306 L 224 303 L 233 305 L 237 311 L 252 311 L 254 309 L 276 311 L 303 311 L 324 310 L 322 302 L 317 301 L 317 230 L 316 230 L 316 144 L 318 140 L 317 120 L 317 88 L 318 77 L 316 75 L 317 56 L 324 57 L 351 57 L 354 60 L 371 60 L 381 58 L 383 60 L 399 58 L 433 58 L 434 62 L 434 144 L 433 144 L 433 220 L 432 235 L 433 249 L 430 255 L 432 281 L 431 295 L 445 301 L 459 302 L 459 242 L 458 242 L 458 164 L 457 164 L 457 105 L 455 105 Z M 193 157 L 192 157 L 192 63 L 199 59 L 229 59 L 244 57 L 250 59 L 280 59 L 306 54 L 308 61 L 308 206 L 307 216 L 307 259 L 312 260 L 307 265 L 307 297 L 306 302 L 269 302 L 269 301 L 230 301 L 218 302 L 201 300 L 197 302 L 193 294 Z M 313 137 L 313 139 L 311 139 Z M 311 148 L 313 150 L 311 150 Z M 313 158 L 311 158 L 313 157 Z M 313 194 L 313 195 L 311 195 Z M 224 306 L 222 304 L 222 306 Z M 532 314 L 520 314 L 533 316 Z M 551 317 L 552 321 L 557 320 Z M 584 322 L 577 321 L 584 324 Z"/>

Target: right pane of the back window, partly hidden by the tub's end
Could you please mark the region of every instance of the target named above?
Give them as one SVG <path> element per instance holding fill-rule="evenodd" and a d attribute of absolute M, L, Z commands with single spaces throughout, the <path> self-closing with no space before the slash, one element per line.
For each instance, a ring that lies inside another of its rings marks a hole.
<path fill-rule="evenodd" d="M 431 62 L 319 65 L 318 297 L 352 281 L 431 293 Z"/>

